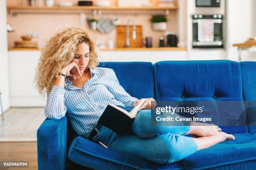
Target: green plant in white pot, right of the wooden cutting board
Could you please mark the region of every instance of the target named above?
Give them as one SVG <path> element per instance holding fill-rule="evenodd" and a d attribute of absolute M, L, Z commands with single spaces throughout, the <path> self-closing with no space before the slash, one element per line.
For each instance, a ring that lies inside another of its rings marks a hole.
<path fill-rule="evenodd" d="M 164 31 L 167 28 L 167 17 L 166 15 L 152 15 L 150 19 L 153 30 Z"/>

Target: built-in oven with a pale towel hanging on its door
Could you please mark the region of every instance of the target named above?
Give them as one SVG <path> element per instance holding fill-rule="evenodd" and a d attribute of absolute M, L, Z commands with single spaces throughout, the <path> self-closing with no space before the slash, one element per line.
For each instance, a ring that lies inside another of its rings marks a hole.
<path fill-rule="evenodd" d="M 223 15 L 192 15 L 193 48 L 223 48 Z"/>

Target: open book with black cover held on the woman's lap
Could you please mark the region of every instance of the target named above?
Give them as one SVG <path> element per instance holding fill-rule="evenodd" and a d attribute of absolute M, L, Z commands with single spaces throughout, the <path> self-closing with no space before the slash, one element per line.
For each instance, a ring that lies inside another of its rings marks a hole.
<path fill-rule="evenodd" d="M 130 112 L 116 105 L 108 104 L 98 120 L 98 123 L 121 135 L 129 128 L 133 119 L 136 117 L 138 110 L 145 101 L 146 99 L 141 100 L 141 102 L 139 102 L 139 104 Z"/>

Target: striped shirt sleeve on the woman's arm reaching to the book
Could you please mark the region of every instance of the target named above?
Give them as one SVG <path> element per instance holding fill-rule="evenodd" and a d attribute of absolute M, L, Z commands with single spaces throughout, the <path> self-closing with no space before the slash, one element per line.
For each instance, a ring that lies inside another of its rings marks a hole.
<path fill-rule="evenodd" d="M 138 99 L 136 97 L 132 97 L 123 89 L 123 87 L 119 84 L 114 70 L 112 69 L 110 70 L 110 80 L 109 91 L 114 95 L 115 99 L 123 102 L 125 106 L 134 106 Z"/>

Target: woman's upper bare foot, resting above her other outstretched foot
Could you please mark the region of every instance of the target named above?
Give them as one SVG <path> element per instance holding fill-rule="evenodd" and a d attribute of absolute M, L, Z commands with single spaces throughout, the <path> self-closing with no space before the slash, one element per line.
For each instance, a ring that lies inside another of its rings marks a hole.
<path fill-rule="evenodd" d="M 221 128 L 213 124 L 192 122 L 190 130 L 187 134 L 193 134 L 197 136 L 212 136 L 220 133 Z"/>

